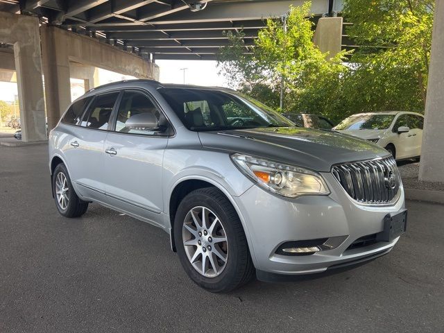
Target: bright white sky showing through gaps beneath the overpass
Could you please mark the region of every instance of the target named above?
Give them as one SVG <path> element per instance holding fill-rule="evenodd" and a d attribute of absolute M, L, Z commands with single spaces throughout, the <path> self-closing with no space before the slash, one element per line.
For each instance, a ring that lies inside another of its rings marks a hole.
<path fill-rule="evenodd" d="M 219 76 L 219 69 L 216 68 L 216 61 L 210 60 L 156 60 L 160 67 L 161 83 L 183 83 L 182 68 L 185 69 L 185 83 L 187 85 L 204 85 L 228 87 L 228 82 Z M 101 85 L 113 81 L 126 80 L 132 76 L 123 76 L 122 74 L 99 69 L 99 80 Z M 79 87 L 80 80 L 71 79 L 71 98 L 74 100 L 83 93 Z M 14 101 L 17 96 L 17 83 L 0 82 L 0 101 Z"/>

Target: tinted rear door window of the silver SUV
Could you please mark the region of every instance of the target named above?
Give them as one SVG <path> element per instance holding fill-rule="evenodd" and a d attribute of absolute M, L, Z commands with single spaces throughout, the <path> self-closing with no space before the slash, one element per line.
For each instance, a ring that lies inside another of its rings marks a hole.
<path fill-rule="evenodd" d="M 85 117 L 83 117 L 82 126 L 98 130 L 108 130 L 108 123 L 117 96 L 119 96 L 118 92 L 96 96 L 89 106 Z"/>

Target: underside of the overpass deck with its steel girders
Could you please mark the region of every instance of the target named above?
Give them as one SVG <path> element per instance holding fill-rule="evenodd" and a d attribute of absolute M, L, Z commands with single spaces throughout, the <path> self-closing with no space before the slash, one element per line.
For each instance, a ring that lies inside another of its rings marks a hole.
<path fill-rule="evenodd" d="M 304 0 L 8 0 L 0 11 L 37 15 L 42 24 L 103 40 L 152 59 L 214 60 L 223 31 L 244 28 L 252 45 L 264 19 Z M 342 10 L 341 0 L 314 0 L 316 17 Z"/>

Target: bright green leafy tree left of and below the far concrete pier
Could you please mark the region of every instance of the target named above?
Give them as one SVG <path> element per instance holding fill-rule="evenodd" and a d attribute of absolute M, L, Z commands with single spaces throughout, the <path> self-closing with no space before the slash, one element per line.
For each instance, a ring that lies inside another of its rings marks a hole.
<path fill-rule="evenodd" d="M 265 103 L 277 106 L 283 79 L 285 111 L 330 116 L 348 70 L 342 63 L 346 52 L 327 60 L 328 53 L 313 43 L 310 6 L 290 7 L 287 29 L 281 19 L 268 19 L 253 47 L 245 46 L 244 33 L 228 32 L 230 46 L 221 49 L 218 66 L 232 85 Z"/>

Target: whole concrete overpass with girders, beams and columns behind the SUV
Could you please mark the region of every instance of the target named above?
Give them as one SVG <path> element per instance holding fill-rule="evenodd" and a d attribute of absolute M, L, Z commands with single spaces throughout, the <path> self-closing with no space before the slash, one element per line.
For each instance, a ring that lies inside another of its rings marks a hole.
<path fill-rule="evenodd" d="M 23 141 L 46 139 L 71 102 L 69 78 L 94 87 L 94 67 L 158 78 L 156 59 L 214 60 L 225 30 L 245 29 L 253 45 L 264 19 L 302 0 L 8 0 L 0 1 L 0 78 L 17 79 Z M 341 0 L 314 0 L 316 20 Z M 321 50 L 341 49 L 342 19 L 318 22 Z M 336 38 L 325 37 L 335 35 Z M 334 40 L 334 42 L 332 42 Z M 3 51 L 3 52 L 1 52 Z M 246 52 L 248 50 L 246 49 Z M 14 76 L 16 71 L 17 76 Z M 44 92 L 42 85 L 44 76 Z M 45 98 L 44 98 L 45 96 Z"/>

